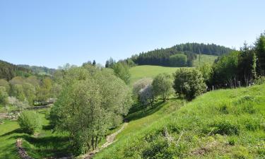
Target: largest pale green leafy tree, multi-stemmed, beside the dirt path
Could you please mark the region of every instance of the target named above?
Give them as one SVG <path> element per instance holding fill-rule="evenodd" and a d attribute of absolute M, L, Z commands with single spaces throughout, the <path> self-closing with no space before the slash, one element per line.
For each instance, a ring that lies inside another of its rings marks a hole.
<path fill-rule="evenodd" d="M 111 69 L 95 66 L 69 69 L 51 117 L 69 131 L 76 154 L 98 146 L 107 129 L 117 126 L 131 105 L 131 93 Z"/>

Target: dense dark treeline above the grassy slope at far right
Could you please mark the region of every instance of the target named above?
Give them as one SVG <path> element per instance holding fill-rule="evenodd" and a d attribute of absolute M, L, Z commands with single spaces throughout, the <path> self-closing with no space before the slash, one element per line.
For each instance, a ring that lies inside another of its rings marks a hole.
<path fill-rule="evenodd" d="M 265 35 L 254 46 L 245 44 L 240 51 L 218 57 L 213 66 L 201 66 L 209 87 L 235 88 L 259 83 L 265 75 Z"/>

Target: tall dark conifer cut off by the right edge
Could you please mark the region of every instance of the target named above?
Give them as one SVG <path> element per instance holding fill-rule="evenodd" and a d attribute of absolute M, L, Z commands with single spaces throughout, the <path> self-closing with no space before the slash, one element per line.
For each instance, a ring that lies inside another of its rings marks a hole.
<path fill-rule="evenodd" d="M 261 34 L 255 42 L 255 52 L 257 54 L 257 71 L 259 76 L 265 75 L 265 33 Z"/>

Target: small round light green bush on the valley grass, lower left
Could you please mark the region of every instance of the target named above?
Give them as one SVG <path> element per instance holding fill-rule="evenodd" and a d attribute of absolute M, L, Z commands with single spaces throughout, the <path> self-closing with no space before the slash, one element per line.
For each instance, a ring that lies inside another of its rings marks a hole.
<path fill-rule="evenodd" d="M 34 134 L 40 128 L 40 117 L 36 112 L 23 111 L 18 117 L 18 124 L 28 134 Z"/>

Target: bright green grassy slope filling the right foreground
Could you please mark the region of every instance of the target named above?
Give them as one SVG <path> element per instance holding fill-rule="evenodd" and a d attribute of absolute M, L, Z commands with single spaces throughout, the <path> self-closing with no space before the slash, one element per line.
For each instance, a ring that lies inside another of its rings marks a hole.
<path fill-rule="evenodd" d="M 265 156 L 265 85 L 216 90 L 179 110 L 167 110 L 178 107 L 175 101 L 129 122 L 118 141 L 95 158 Z"/>

